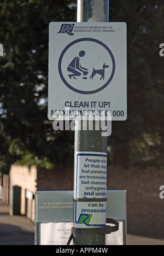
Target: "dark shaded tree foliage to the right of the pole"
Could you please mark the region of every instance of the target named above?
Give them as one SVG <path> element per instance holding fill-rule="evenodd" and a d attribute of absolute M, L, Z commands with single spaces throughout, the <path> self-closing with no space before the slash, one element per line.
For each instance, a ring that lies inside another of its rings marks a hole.
<path fill-rule="evenodd" d="M 160 154 L 160 159 L 163 159 L 164 67 L 159 56 L 159 45 L 163 42 L 164 5 L 161 1 L 111 0 L 110 7 L 110 21 L 127 23 L 128 60 L 128 118 L 124 123 L 113 123 L 110 141 L 113 147 L 122 148 L 122 159 L 128 157 L 125 148 L 130 147 L 130 159 L 137 164 L 135 159 L 138 158 L 139 161 L 144 159 L 144 162 L 145 159 L 152 160 L 150 142 L 154 141 L 155 155 Z M 149 135 L 149 143 L 145 135 Z M 144 154 L 138 155 L 135 150 L 138 147 L 142 149 L 143 142 L 147 158 Z M 117 150 L 115 152 L 118 153 Z M 120 154 L 117 155 L 120 158 Z M 115 161 L 119 162 L 119 159 Z M 154 165 L 158 163 L 157 158 L 151 161 Z"/>

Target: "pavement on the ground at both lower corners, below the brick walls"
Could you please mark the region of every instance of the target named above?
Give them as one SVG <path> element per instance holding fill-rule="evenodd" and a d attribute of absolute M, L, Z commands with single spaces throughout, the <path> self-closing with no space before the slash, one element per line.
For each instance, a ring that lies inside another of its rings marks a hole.
<path fill-rule="evenodd" d="M 24 216 L 10 216 L 0 199 L 0 245 L 34 245 L 34 223 Z M 127 234 L 127 245 L 164 245 L 164 240 Z"/>

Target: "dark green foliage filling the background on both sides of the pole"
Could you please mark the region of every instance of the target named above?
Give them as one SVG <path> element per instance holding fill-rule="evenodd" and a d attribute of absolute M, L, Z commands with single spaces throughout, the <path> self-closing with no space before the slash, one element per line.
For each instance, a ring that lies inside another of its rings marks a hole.
<path fill-rule="evenodd" d="M 73 165 L 74 133 L 47 118 L 51 21 L 76 21 L 77 1 L 1 0 L 0 171 L 10 164 Z M 127 23 L 128 119 L 114 122 L 109 146 L 130 145 L 132 164 L 164 165 L 164 3 L 110 0 L 110 21 Z M 149 137 L 148 139 L 145 139 Z M 152 143 L 150 145 L 150 142 Z"/>

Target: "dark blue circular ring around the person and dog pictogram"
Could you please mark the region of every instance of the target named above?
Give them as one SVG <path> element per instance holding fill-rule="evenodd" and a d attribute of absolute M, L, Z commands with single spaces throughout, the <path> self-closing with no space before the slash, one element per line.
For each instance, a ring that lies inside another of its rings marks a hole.
<path fill-rule="evenodd" d="M 90 41 L 90 42 L 95 42 L 95 43 L 98 43 L 100 45 L 102 45 L 109 53 L 110 57 L 112 58 L 112 63 L 113 63 L 113 69 L 112 69 L 112 74 L 110 75 L 110 78 L 108 80 L 108 82 L 106 84 L 104 84 L 101 88 L 97 89 L 97 90 L 93 90 L 93 91 L 81 91 L 81 90 L 78 90 L 78 89 L 75 89 L 73 88 L 73 86 L 71 86 L 70 84 L 68 84 L 68 82 L 66 81 L 66 79 L 63 77 L 63 74 L 62 74 L 62 68 L 61 68 L 61 62 L 62 62 L 62 59 L 63 59 L 63 56 L 65 55 L 66 51 L 74 44 L 77 44 L 79 42 L 84 42 L 84 41 Z M 63 81 L 63 83 L 69 88 L 71 89 L 72 91 L 74 92 L 77 92 L 78 94 L 96 94 L 97 92 L 99 91 L 102 91 L 104 88 L 106 88 L 108 86 L 108 84 L 112 81 L 113 77 L 114 77 L 114 73 L 115 73 L 115 59 L 114 59 L 114 56 L 113 56 L 113 53 L 112 51 L 110 51 L 110 49 L 108 48 L 108 46 L 104 43 L 102 43 L 101 41 L 97 40 L 97 39 L 93 39 L 93 38 L 81 38 L 81 39 L 77 39 L 77 40 L 74 40 L 73 42 L 71 42 L 70 44 L 68 44 L 66 46 L 66 48 L 62 51 L 61 55 L 60 55 L 60 58 L 59 58 L 59 61 L 58 61 L 58 72 L 60 74 L 60 77 Z"/>

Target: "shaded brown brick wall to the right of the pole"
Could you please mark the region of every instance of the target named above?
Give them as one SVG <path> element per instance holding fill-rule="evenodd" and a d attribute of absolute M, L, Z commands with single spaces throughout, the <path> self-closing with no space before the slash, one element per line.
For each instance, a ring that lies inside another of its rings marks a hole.
<path fill-rule="evenodd" d="M 127 190 L 128 233 L 164 238 L 164 200 L 159 197 L 164 170 L 115 168 L 108 172 L 108 189 Z"/>

